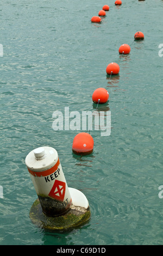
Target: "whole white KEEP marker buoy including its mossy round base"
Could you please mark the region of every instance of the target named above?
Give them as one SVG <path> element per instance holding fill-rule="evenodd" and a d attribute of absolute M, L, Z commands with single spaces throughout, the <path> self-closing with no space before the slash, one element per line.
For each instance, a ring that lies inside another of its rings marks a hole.
<path fill-rule="evenodd" d="M 36 148 L 25 162 L 38 196 L 29 214 L 34 224 L 47 230 L 64 231 L 89 220 L 89 202 L 81 191 L 68 188 L 55 149 Z"/>

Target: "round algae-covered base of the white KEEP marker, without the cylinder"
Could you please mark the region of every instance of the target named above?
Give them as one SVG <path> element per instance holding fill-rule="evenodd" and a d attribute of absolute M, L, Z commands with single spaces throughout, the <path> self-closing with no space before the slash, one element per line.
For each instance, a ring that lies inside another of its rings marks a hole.
<path fill-rule="evenodd" d="M 90 219 L 89 203 L 84 194 L 75 188 L 68 188 L 72 198 L 72 205 L 65 215 L 49 217 L 42 212 L 39 199 L 30 208 L 30 219 L 37 227 L 49 231 L 67 231 L 83 225 Z"/>

